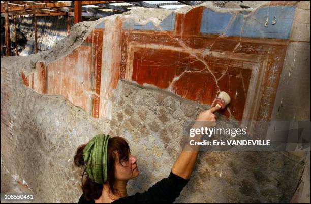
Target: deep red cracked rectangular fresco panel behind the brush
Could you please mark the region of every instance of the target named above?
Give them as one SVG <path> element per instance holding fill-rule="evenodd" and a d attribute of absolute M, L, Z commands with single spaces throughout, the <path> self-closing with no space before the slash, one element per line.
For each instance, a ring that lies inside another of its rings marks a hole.
<path fill-rule="evenodd" d="M 252 70 L 230 66 L 228 60 L 213 62 L 217 63 L 173 50 L 139 49 L 134 53 L 132 80 L 203 104 L 212 104 L 220 90 L 226 91 L 232 97 L 231 114 L 241 120 Z"/>

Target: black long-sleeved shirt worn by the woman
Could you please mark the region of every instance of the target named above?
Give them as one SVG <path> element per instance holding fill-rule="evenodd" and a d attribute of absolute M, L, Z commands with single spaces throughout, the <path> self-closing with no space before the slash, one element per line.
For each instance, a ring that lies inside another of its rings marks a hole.
<path fill-rule="evenodd" d="M 172 172 L 167 178 L 158 181 L 143 193 L 119 198 L 111 203 L 172 203 L 179 196 L 183 187 L 189 179 L 181 178 Z M 95 203 L 94 200 L 88 201 L 83 194 L 78 203 Z"/>

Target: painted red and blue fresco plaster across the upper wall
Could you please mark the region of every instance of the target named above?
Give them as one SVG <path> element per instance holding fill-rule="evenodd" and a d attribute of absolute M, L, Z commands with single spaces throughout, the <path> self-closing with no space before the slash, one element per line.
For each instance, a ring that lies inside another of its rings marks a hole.
<path fill-rule="evenodd" d="M 111 90 L 121 78 L 208 105 L 226 91 L 232 102 L 223 115 L 268 120 L 296 5 L 272 1 L 230 12 L 203 5 L 145 24 L 117 17 L 113 31 L 100 23 L 72 53 L 38 65 L 42 74 L 27 80 L 39 93 L 64 95 L 95 118 L 109 117 Z M 111 33 L 116 40 L 105 37 Z"/>

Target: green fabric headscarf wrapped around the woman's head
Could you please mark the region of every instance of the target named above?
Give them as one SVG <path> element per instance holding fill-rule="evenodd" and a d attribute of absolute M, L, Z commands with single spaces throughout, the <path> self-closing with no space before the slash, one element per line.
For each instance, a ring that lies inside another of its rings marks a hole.
<path fill-rule="evenodd" d="M 98 134 L 92 138 L 83 150 L 83 159 L 87 176 L 95 183 L 107 181 L 107 145 L 110 136 Z"/>

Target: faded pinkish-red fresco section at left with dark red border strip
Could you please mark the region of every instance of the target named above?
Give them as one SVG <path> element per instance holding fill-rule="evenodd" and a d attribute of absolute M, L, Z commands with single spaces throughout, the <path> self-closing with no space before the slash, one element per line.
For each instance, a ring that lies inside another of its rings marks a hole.
<path fill-rule="evenodd" d="M 72 53 L 49 63 L 47 93 L 64 95 L 73 104 L 94 115 L 95 109 L 99 109 L 100 98 L 91 103 L 91 96 L 94 92 L 100 93 L 102 41 L 103 31 L 94 30 L 85 43 Z M 41 75 L 46 73 L 42 72 Z M 41 78 L 39 81 L 42 81 Z M 98 114 L 95 115 L 98 117 Z"/>

